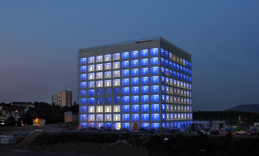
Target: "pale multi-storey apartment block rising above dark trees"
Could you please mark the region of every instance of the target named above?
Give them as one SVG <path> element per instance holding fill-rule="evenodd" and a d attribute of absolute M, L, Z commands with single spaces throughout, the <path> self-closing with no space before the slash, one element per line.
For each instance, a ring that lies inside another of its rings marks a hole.
<path fill-rule="evenodd" d="M 51 93 L 51 104 L 70 107 L 72 105 L 72 91 L 61 90 L 60 93 Z"/>

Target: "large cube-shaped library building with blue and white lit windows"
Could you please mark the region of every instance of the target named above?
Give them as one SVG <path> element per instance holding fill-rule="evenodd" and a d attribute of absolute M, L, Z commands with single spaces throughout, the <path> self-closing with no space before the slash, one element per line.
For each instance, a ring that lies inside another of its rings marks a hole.
<path fill-rule="evenodd" d="M 80 49 L 78 93 L 82 128 L 184 128 L 191 54 L 162 37 Z"/>

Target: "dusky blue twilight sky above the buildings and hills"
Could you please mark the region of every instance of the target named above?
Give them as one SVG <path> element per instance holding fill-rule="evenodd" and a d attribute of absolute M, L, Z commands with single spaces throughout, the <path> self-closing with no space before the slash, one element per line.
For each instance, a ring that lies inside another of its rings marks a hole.
<path fill-rule="evenodd" d="M 192 55 L 193 110 L 259 104 L 259 1 L 0 1 L 0 103 L 77 101 L 77 50 L 161 36 Z"/>

